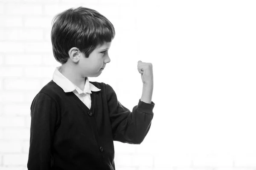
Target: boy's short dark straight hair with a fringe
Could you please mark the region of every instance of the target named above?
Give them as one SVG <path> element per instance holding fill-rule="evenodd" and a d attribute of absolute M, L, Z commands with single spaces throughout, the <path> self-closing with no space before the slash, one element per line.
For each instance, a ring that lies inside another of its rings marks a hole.
<path fill-rule="evenodd" d="M 115 37 L 113 24 L 93 9 L 81 6 L 67 9 L 52 21 L 53 55 L 62 64 L 67 62 L 72 47 L 77 47 L 88 58 L 97 46 Z"/>

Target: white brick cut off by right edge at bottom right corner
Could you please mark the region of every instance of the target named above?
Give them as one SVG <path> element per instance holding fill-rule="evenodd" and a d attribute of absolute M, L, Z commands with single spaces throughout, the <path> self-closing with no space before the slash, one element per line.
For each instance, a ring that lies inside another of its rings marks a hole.
<path fill-rule="evenodd" d="M 235 167 L 256 167 L 256 156 L 235 156 Z"/>

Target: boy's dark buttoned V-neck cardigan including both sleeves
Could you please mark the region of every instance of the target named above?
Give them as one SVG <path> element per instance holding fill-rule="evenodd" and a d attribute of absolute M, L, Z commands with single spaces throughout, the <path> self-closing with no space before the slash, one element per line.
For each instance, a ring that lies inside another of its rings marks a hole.
<path fill-rule="evenodd" d="M 113 88 L 90 82 L 91 108 L 50 81 L 31 104 L 28 170 L 115 170 L 113 141 L 140 144 L 153 118 L 154 102 L 139 100 L 130 112 Z"/>

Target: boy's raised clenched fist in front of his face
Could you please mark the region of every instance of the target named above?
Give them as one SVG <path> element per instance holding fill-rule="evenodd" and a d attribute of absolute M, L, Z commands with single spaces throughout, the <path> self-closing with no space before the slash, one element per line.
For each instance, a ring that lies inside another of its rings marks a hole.
<path fill-rule="evenodd" d="M 153 66 L 151 63 L 138 61 L 138 71 L 141 74 L 143 84 L 153 84 Z"/>

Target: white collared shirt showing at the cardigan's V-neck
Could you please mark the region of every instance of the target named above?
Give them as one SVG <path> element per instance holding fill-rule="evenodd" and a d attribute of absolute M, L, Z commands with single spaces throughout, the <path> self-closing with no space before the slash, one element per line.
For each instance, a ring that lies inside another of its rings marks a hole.
<path fill-rule="evenodd" d="M 64 90 L 64 92 L 73 92 L 90 109 L 90 94 L 92 93 L 92 91 L 98 92 L 101 89 L 98 89 L 96 86 L 91 84 L 87 77 L 84 85 L 84 91 L 82 91 L 79 87 L 77 87 L 69 79 L 62 75 L 60 70 L 61 66 L 56 67 L 52 76 L 52 81 L 54 81 L 58 86 L 60 86 Z"/>

